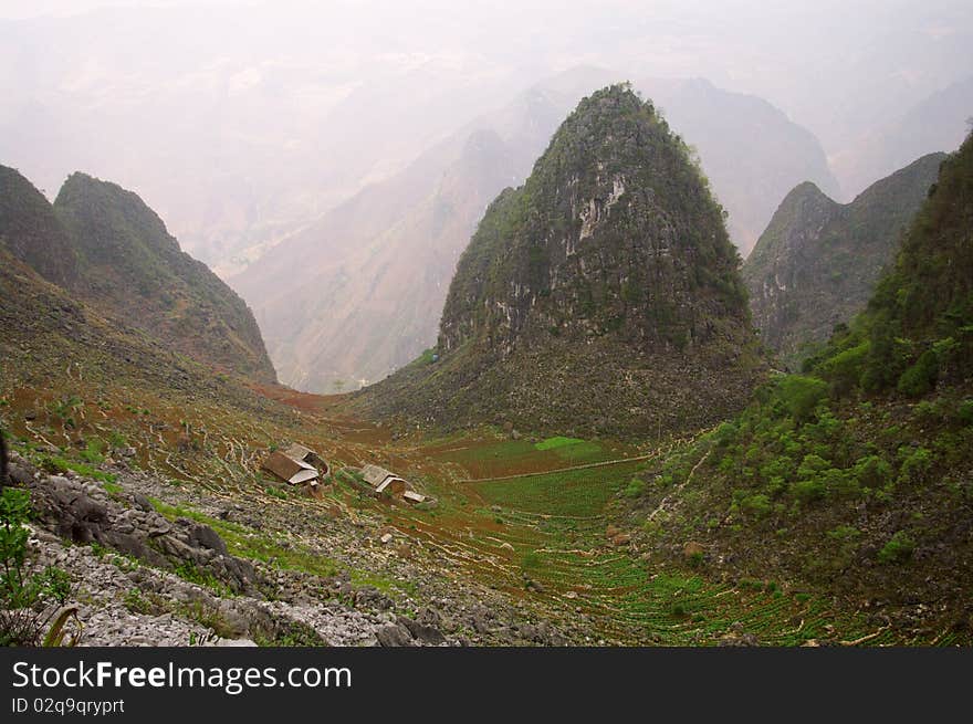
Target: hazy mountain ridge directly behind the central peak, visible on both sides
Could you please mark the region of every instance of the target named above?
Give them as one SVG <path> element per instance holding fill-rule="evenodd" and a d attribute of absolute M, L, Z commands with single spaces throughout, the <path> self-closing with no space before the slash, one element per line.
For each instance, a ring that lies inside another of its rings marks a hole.
<path fill-rule="evenodd" d="M 456 262 L 489 201 L 526 178 L 561 119 L 613 80 L 608 71 L 577 69 L 538 84 L 232 277 L 281 379 L 348 389 L 429 347 Z M 741 248 L 801 180 L 835 192 L 814 137 L 766 102 L 704 81 L 636 86 L 697 148 Z"/>

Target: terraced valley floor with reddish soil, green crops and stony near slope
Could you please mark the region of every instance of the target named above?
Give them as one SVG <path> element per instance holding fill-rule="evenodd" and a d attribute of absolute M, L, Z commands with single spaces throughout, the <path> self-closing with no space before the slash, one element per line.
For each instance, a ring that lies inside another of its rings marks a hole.
<path fill-rule="evenodd" d="M 35 555 L 74 578 L 88 643 L 951 642 L 896 631 L 787 581 L 739 578 L 691 541 L 660 556 L 638 529 L 617 527 L 616 508 L 686 440 L 632 445 L 485 429 L 398 437 L 344 417 L 336 398 L 258 391 L 285 407 L 254 419 L 212 401 L 187 408 L 80 381 L 71 395 L 2 391 L 3 424 L 32 485 L 63 474 L 118 515 L 149 501 L 153 515 L 176 528 L 207 526 L 228 556 L 254 566 L 253 585 L 230 590 L 41 529 Z M 290 441 L 332 464 L 323 500 L 261 474 L 268 451 Z M 367 494 L 356 480 L 367 463 L 436 504 Z M 165 623 L 158 634 L 151 620 Z M 417 634 L 416 621 L 429 630 Z"/>

